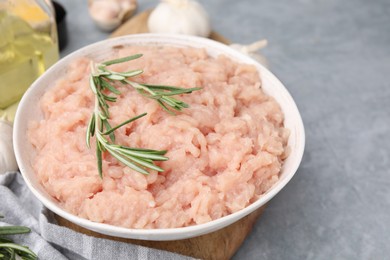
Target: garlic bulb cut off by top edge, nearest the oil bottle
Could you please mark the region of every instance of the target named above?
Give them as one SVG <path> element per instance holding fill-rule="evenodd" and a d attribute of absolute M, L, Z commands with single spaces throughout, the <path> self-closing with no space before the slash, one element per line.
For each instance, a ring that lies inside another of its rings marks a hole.
<path fill-rule="evenodd" d="M 137 0 L 89 0 L 89 14 L 104 31 L 112 31 L 133 15 Z"/>

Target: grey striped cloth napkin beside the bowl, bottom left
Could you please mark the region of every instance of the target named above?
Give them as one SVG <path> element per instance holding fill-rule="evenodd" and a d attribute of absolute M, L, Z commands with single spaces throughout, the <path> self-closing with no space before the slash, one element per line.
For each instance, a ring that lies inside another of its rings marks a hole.
<path fill-rule="evenodd" d="M 52 212 L 30 192 L 20 173 L 0 175 L 0 226 L 22 225 L 31 233 L 12 236 L 41 260 L 192 259 L 143 246 L 95 238 L 56 225 Z"/>

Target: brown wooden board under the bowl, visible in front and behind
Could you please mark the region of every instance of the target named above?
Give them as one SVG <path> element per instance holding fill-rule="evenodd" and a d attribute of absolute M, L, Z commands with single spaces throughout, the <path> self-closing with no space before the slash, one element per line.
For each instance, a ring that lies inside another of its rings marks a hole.
<path fill-rule="evenodd" d="M 134 16 L 132 19 L 128 20 L 116 31 L 114 31 L 110 37 L 118 37 L 136 33 L 147 33 L 147 20 L 150 12 L 151 11 L 148 10 Z M 210 38 L 225 44 L 229 43 L 225 37 L 218 34 L 217 32 L 212 32 Z M 265 206 L 244 217 L 240 221 L 213 233 L 176 241 L 144 241 L 111 237 L 77 226 L 59 216 L 56 216 L 56 219 L 58 224 L 62 226 L 69 227 L 77 232 L 94 237 L 106 238 L 115 241 L 166 250 L 198 259 L 223 260 L 230 259 L 235 254 L 235 252 L 241 246 L 242 242 L 244 242 L 249 232 L 252 230 L 254 223 L 264 211 L 264 209 Z"/>

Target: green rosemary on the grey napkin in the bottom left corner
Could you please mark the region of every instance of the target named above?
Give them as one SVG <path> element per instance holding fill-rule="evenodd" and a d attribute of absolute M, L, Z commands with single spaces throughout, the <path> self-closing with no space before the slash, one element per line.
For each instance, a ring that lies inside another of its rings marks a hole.
<path fill-rule="evenodd" d="M 3 218 L 3 216 L 0 216 Z M 0 227 L 0 259 L 25 259 L 35 260 L 38 256 L 26 246 L 14 243 L 11 239 L 4 237 L 17 234 L 29 233 L 31 230 L 23 226 L 1 226 Z"/>

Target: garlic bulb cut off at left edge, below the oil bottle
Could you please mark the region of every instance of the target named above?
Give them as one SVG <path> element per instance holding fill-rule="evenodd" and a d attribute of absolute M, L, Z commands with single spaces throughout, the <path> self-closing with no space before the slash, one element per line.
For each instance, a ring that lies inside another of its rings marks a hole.
<path fill-rule="evenodd" d="M 0 174 L 17 170 L 18 165 L 12 145 L 12 125 L 0 119 Z"/>

